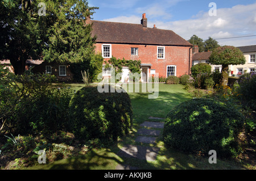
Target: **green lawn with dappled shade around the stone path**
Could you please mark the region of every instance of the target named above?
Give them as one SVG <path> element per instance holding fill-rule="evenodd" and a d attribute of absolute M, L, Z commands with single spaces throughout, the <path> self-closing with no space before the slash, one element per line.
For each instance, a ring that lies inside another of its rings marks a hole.
<path fill-rule="evenodd" d="M 71 89 L 79 90 L 83 85 L 65 85 Z M 63 159 L 46 165 L 40 165 L 30 169 L 107 169 L 113 170 L 118 164 L 139 167 L 140 169 L 243 169 L 234 161 L 220 161 L 210 164 L 208 158 L 188 155 L 179 150 L 166 148 L 159 137 L 157 143 L 151 146 L 160 148 L 156 161 L 147 162 L 133 158 L 120 158 L 117 153 L 119 148 L 126 144 L 147 145 L 135 142 L 138 125 L 148 120 L 148 117 L 165 117 L 177 104 L 191 99 L 192 96 L 181 85 L 159 84 L 159 96 L 157 99 L 148 99 L 149 93 L 130 92 L 131 103 L 134 112 L 134 131 L 127 137 L 121 138 L 117 144 L 109 148 L 93 150 L 92 153 L 82 157 Z M 185 134 L 185 133 L 184 133 Z"/>

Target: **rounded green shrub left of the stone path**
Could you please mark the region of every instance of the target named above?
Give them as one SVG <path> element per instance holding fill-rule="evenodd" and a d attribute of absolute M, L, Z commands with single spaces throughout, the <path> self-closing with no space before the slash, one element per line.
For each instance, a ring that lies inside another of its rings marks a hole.
<path fill-rule="evenodd" d="M 127 92 L 100 93 L 97 86 L 77 91 L 69 104 L 69 112 L 73 133 L 87 141 L 115 141 L 118 136 L 128 134 L 133 123 Z"/>

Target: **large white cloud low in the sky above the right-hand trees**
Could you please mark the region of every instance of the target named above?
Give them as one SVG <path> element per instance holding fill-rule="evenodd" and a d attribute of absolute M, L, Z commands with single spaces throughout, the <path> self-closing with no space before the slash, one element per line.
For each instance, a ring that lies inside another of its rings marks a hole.
<path fill-rule="evenodd" d="M 237 5 L 232 8 L 217 9 L 217 16 L 209 16 L 208 12 L 200 11 L 191 19 L 174 22 L 156 21 L 158 28 L 172 30 L 188 40 L 197 35 L 206 40 L 208 37 L 225 38 L 246 35 L 256 35 L 256 3 L 252 5 Z M 151 24 L 151 23 L 148 23 Z M 256 38 L 217 40 L 221 44 L 234 46 L 256 44 Z M 247 44 L 246 44 L 247 43 Z"/>

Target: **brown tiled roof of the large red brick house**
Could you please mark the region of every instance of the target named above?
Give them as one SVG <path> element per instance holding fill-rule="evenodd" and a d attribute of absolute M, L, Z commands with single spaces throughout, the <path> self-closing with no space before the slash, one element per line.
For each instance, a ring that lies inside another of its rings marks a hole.
<path fill-rule="evenodd" d="M 145 45 L 179 45 L 192 47 L 171 30 L 143 27 L 142 24 L 115 23 L 92 20 L 92 36 L 98 43 L 122 43 Z"/>

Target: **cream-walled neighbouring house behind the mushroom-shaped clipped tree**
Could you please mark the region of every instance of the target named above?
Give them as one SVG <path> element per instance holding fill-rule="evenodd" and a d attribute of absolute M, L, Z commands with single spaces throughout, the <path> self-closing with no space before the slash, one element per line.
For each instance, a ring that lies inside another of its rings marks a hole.
<path fill-rule="evenodd" d="M 255 72 L 256 64 L 255 64 L 255 56 L 256 56 L 256 45 L 237 47 L 245 56 L 246 63 L 244 65 L 229 65 L 229 75 L 230 76 L 239 76 L 244 73 Z M 196 65 L 199 63 L 209 63 L 209 57 L 212 52 L 198 52 L 198 46 L 195 46 L 195 51 L 193 52 L 192 65 Z M 212 65 L 212 71 L 217 70 L 221 71 L 221 65 Z"/>

